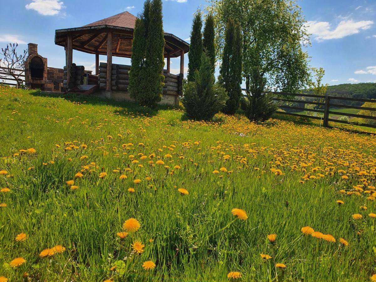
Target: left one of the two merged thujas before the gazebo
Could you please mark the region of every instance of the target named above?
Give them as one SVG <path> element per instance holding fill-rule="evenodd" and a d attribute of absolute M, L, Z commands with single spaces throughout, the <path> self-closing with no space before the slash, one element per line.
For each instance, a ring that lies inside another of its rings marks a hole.
<path fill-rule="evenodd" d="M 138 103 L 143 104 L 147 99 L 145 92 L 146 84 L 146 38 L 149 26 L 150 0 L 144 3 L 144 11 L 136 19 L 135 29 L 133 30 L 133 44 L 131 67 L 129 71 L 128 92 L 130 97 Z"/>

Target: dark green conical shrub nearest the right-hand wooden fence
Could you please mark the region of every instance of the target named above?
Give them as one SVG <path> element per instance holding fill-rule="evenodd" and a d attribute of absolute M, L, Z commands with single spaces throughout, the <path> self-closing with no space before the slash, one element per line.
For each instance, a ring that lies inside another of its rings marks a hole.
<path fill-rule="evenodd" d="M 266 89 L 266 79 L 253 68 L 245 100 L 245 114 L 250 121 L 265 121 L 277 110 L 272 94 Z"/>

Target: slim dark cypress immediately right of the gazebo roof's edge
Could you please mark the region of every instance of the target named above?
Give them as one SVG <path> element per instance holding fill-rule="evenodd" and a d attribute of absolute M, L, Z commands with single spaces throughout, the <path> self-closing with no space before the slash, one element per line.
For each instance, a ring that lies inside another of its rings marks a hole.
<path fill-rule="evenodd" d="M 193 81 L 194 72 L 199 70 L 202 56 L 202 20 L 201 13 L 197 11 L 193 18 L 192 31 L 191 31 L 191 44 L 188 52 L 188 81 Z"/>

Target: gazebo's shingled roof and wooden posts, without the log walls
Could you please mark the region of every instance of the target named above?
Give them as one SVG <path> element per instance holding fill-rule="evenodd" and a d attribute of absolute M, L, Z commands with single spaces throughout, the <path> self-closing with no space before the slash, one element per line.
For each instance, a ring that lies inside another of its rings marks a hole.
<path fill-rule="evenodd" d="M 136 17 L 122 12 L 86 26 L 58 29 L 55 44 L 65 47 L 67 84 L 71 73 L 73 49 L 96 55 L 96 75 L 99 74 L 99 55 L 107 55 L 106 90 L 111 91 L 112 56 L 130 58 L 132 55 L 133 30 Z M 170 73 L 170 58 L 180 56 L 180 76 L 184 73 L 184 54 L 189 44 L 171 33 L 164 33 L 164 56 L 167 58 L 167 73 Z"/>

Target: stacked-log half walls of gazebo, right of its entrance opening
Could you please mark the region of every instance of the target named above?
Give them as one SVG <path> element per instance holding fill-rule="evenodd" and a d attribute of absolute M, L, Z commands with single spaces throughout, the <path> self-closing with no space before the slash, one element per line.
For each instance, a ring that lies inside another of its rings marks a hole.
<path fill-rule="evenodd" d="M 129 85 L 130 65 L 112 64 L 111 70 L 111 90 L 127 91 Z M 165 85 L 164 94 L 179 95 L 182 91 L 182 75 L 174 75 L 164 70 Z M 106 89 L 107 63 L 100 63 L 98 83 L 100 89 Z"/>

